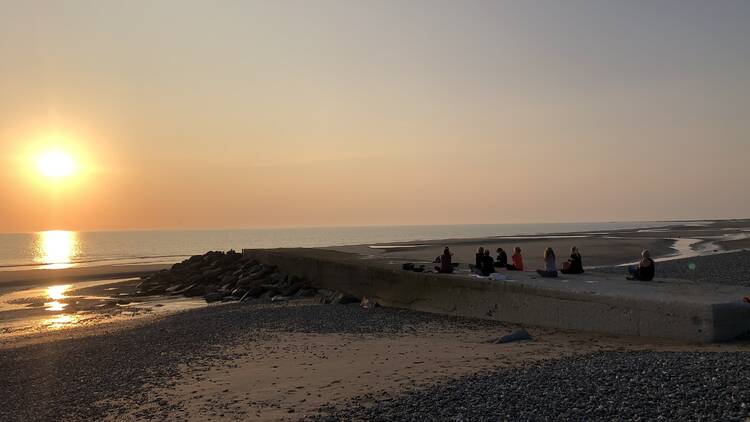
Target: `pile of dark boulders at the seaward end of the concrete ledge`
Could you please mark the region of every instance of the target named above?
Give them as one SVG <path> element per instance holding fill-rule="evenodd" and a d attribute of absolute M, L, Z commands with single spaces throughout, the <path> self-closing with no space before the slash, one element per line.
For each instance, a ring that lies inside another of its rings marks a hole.
<path fill-rule="evenodd" d="M 139 295 L 203 296 L 206 302 L 248 298 L 284 301 L 316 297 L 320 303 L 352 303 L 359 299 L 341 292 L 318 289 L 276 266 L 262 264 L 235 251 L 211 251 L 192 256 L 146 276 L 137 287 Z"/>

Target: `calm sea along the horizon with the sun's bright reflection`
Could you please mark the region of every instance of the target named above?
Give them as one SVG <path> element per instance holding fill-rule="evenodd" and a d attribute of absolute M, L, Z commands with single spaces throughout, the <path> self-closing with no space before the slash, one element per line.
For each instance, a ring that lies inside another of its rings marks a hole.
<path fill-rule="evenodd" d="M 208 250 L 319 247 L 664 226 L 665 222 L 372 226 L 0 234 L 0 269 L 174 262 Z"/>

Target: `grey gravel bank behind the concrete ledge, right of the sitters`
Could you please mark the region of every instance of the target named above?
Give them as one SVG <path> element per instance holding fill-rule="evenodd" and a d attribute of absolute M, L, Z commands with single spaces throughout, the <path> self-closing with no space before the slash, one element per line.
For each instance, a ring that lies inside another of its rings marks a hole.
<path fill-rule="evenodd" d="M 623 267 L 597 268 L 592 272 L 627 274 Z M 698 283 L 750 287 L 750 252 L 731 252 L 656 263 L 656 278 L 680 278 Z"/>

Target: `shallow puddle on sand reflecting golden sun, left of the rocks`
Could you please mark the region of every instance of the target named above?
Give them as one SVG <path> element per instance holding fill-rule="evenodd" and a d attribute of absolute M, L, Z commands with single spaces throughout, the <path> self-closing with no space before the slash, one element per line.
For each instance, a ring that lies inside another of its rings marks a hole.
<path fill-rule="evenodd" d="M 0 339 L 206 306 L 202 298 L 130 296 L 137 281 L 73 282 L 0 294 Z"/>

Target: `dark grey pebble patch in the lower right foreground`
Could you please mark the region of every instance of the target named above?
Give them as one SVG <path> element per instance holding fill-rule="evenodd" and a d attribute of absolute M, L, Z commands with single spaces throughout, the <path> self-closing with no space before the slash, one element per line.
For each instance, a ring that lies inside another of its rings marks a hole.
<path fill-rule="evenodd" d="M 599 352 L 326 406 L 317 421 L 745 420 L 750 352 Z"/>

